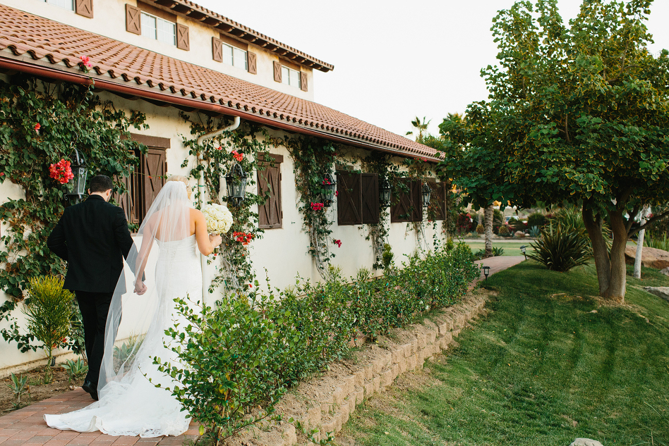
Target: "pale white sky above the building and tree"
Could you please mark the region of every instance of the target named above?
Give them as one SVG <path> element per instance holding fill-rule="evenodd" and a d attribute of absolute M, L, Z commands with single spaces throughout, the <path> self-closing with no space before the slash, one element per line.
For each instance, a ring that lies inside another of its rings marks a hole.
<path fill-rule="evenodd" d="M 334 65 L 314 70 L 316 102 L 399 135 L 488 95 L 480 70 L 496 64 L 490 27 L 513 0 L 194 0 Z M 580 0 L 559 0 L 567 23 Z M 655 0 L 652 52 L 669 48 L 669 0 Z"/>

